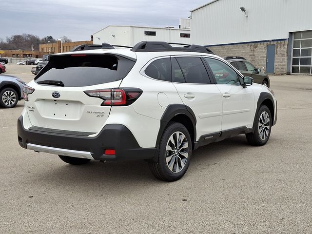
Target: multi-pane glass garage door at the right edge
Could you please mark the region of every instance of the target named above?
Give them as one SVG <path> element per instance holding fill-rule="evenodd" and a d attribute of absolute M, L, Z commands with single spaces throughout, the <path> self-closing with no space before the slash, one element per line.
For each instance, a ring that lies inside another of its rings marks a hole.
<path fill-rule="evenodd" d="M 293 33 L 292 74 L 312 74 L 312 31 Z"/>

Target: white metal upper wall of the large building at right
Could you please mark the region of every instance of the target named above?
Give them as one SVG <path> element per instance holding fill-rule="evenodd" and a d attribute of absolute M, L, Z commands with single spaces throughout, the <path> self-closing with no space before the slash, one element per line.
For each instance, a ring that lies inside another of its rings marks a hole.
<path fill-rule="evenodd" d="M 312 29 L 311 9 L 312 0 L 218 0 L 192 12 L 191 42 L 288 39 L 289 32 Z"/>

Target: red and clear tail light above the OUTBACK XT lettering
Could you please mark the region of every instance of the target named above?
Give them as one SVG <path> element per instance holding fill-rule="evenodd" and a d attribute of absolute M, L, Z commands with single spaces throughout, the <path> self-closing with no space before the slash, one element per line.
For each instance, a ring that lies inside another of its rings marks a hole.
<path fill-rule="evenodd" d="M 135 102 L 142 94 L 142 90 L 137 88 L 116 88 L 88 90 L 84 93 L 90 97 L 101 98 L 101 106 L 128 106 Z"/>

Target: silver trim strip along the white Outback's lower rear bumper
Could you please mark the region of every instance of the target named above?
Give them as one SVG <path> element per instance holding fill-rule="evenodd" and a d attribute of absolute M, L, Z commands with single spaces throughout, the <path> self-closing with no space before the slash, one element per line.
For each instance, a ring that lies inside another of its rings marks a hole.
<path fill-rule="evenodd" d="M 91 153 L 87 151 L 67 150 L 67 149 L 60 149 L 60 148 L 43 146 L 43 145 L 35 145 L 35 144 L 30 144 L 30 143 L 27 144 L 27 149 L 37 151 L 37 152 L 54 154 L 54 155 L 94 159 L 91 156 Z"/>

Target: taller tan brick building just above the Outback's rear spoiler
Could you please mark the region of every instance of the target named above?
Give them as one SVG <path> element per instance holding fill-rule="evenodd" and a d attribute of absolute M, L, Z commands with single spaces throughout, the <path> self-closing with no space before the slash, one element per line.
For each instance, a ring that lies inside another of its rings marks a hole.
<path fill-rule="evenodd" d="M 71 41 L 71 42 L 60 42 L 57 40 L 55 43 L 50 43 L 50 50 L 49 50 L 49 43 L 46 44 L 40 44 L 39 45 L 39 51 L 44 54 L 55 54 L 55 53 L 61 53 L 61 47 L 62 52 L 69 52 L 71 49 L 75 48 L 78 45 L 81 44 L 93 44 L 92 40 L 81 40 L 81 41 Z"/>

